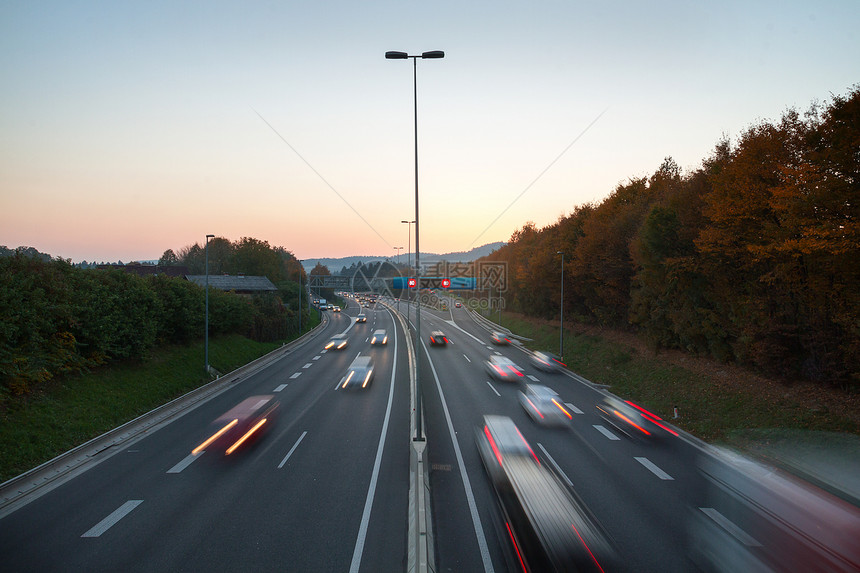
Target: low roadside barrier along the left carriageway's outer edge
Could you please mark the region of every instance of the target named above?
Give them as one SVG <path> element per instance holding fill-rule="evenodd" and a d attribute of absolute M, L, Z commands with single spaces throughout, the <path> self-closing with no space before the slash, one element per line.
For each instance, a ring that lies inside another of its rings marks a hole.
<path fill-rule="evenodd" d="M 328 318 L 324 316 L 313 329 L 281 348 L 3 482 L 0 484 L 0 517 L 51 491 L 66 479 L 83 473 L 91 467 L 91 464 L 101 463 L 110 458 L 119 452 L 118 446 L 129 445 L 133 441 L 146 437 L 191 408 L 241 382 L 248 372 L 264 368 L 290 354 L 314 338 L 318 334 L 317 331 L 326 324 L 328 324 Z"/>

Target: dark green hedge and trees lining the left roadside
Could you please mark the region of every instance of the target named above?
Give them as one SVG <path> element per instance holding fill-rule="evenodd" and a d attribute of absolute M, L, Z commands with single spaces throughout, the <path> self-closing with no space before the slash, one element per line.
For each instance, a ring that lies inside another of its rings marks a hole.
<path fill-rule="evenodd" d="M 210 288 L 211 334 L 274 341 L 298 332 L 299 285 L 292 277 L 298 280 L 303 271 L 292 253 L 250 238 L 236 243 L 216 238 L 209 248 L 210 273 L 214 266 L 265 275 L 278 287 L 278 294 L 254 296 Z M 186 247 L 171 259 L 168 250 L 162 259 L 202 274 L 198 251 L 199 245 Z M 145 359 L 157 346 L 202 339 L 205 294 L 204 288 L 166 274 L 83 269 L 23 251 L 0 257 L 0 405 L 57 376 L 113 360 Z M 302 326 L 310 318 L 306 298 L 304 303 Z"/>

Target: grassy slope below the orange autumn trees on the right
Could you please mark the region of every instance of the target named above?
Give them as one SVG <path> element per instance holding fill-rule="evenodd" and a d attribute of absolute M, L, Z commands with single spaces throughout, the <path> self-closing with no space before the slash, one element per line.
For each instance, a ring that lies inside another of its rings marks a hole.
<path fill-rule="evenodd" d="M 503 314 L 502 325 L 532 338 L 533 350 L 558 352 L 558 325 Z M 766 386 L 739 383 L 714 365 L 703 374 L 646 356 L 634 348 L 565 328 L 564 359 L 570 370 L 596 384 L 610 386 L 621 397 L 634 400 L 673 424 L 708 442 L 739 443 L 748 429 L 816 430 L 860 434 L 856 417 L 810 403 L 807 396 L 785 390 L 779 383 Z M 822 393 L 829 393 L 826 389 Z M 828 396 L 839 400 L 839 397 Z M 832 402 L 831 402 L 832 404 Z M 679 417 L 673 418 L 677 407 Z"/>

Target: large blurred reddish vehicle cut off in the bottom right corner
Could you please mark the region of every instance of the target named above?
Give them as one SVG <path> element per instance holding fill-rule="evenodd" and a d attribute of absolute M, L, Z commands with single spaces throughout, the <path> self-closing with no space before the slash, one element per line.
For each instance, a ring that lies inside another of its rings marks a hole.
<path fill-rule="evenodd" d="M 730 450 L 709 448 L 698 465 L 704 497 L 688 510 L 687 530 L 702 571 L 860 571 L 856 496 Z"/>

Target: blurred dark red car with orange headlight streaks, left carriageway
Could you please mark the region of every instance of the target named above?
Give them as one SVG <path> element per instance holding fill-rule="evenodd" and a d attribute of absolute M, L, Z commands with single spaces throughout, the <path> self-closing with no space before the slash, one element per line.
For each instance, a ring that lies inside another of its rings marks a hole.
<path fill-rule="evenodd" d="M 274 425 L 279 408 L 280 402 L 271 394 L 246 398 L 212 422 L 215 432 L 191 453 L 223 451 L 229 456 L 249 446 Z"/>

